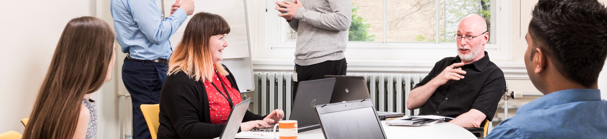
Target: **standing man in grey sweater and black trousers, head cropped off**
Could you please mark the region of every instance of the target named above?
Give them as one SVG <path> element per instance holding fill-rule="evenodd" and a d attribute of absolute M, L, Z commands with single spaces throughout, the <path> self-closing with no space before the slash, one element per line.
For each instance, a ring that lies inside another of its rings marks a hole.
<path fill-rule="evenodd" d="M 278 16 L 297 32 L 295 81 L 345 75 L 345 48 L 352 18 L 350 0 L 276 1 Z M 294 90 L 297 90 L 297 83 Z"/>

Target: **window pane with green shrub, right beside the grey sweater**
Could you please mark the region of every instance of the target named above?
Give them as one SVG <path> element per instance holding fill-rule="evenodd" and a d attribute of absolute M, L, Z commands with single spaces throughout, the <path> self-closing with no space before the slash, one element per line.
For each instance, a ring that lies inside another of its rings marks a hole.
<path fill-rule="evenodd" d="M 384 1 L 353 0 L 349 41 L 384 41 Z"/>

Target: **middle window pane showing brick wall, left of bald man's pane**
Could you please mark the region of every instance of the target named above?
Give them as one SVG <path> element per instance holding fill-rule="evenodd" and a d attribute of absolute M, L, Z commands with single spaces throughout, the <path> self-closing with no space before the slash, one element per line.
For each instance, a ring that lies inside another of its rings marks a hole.
<path fill-rule="evenodd" d="M 435 42 L 436 0 L 387 0 L 387 42 Z"/>

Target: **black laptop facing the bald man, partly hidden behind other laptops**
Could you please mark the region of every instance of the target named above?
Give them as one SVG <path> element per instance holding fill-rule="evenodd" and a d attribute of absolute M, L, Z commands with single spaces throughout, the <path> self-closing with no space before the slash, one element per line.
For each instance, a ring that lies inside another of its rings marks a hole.
<path fill-rule="evenodd" d="M 336 78 L 331 103 L 342 101 L 363 100 L 371 98 L 367 81 L 364 76 L 325 75 L 325 78 Z M 404 113 L 378 111 L 379 120 L 385 118 L 404 117 Z"/>

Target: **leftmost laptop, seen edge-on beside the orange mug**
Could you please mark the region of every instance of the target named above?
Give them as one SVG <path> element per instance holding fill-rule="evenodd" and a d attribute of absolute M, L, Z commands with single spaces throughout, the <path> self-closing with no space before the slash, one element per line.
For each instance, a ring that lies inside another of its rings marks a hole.
<path fill-rule="evenodd" d="M 251 98 L 246 99 L 245 101 L 242 101 L 234 106 L 232 112 L 229 113 L 226 126 L 222 131 L 222 135 L 219 136 L 220 139 L 236 138 L 238 129 L 240 129 L 240 123 L 242 123 L 242 119 L 245 118 L 246 109 L 248 109 L 250 103 Z"/>

